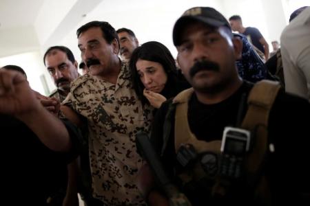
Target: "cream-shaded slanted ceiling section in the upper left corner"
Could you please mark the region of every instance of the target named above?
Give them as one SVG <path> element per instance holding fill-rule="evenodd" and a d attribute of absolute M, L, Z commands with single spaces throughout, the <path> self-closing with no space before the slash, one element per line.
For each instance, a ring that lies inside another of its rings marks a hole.
<path fill-rule="evenodd" d="M 0 57 L 56 45 L 101 0 L 1 0 Z"/>

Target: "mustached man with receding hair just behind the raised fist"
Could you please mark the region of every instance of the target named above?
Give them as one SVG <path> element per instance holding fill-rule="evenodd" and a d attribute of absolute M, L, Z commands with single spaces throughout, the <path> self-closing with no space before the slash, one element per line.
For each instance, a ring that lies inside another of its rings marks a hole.
<path fill-rule="evenodd" d="M 63 100 L 65 100 L 70 92 L 70 83 L 79 76 L 78 63 L 76 62 L 71 50 L 64 46 L 54 46 L 48 48 L 44 54 L 43 62 L 45 67 L 48 69 L 52 80 L 54 80 L 54 84 L 57 89 L 50 94 L 50 98 L 45 98 L 41 95 L 39 98 L 41 98 L 41 103 L 45 106 L 45 108 L 47 108 L 50 112 L 59 115 L 59 102 L 63 102 Z M 74 188 L 73 185 L 67 185 L 67 182 L 76 183 L 77 181 L 77 179 L 68 181 L 67 178 L 67 176 L 69 176 L 69 179 L 73 178 L 74 174 L 78 170 L 76 165 L 77 163 L 73 161 L 68 165 L 68 171 L 66 168 L 63 169 L 63 184 L 59 185 L 59 190 L 56 191 L 55 194 L 52 194 L 49 198 L 50 202 L 57 202 L 54 203 L 54 205 L 70 205 L 73 201 L 78 201 L 76 188 Z M 66 195 L 66 190 L 70 190 L 68 194 L 72 195 Z"/>

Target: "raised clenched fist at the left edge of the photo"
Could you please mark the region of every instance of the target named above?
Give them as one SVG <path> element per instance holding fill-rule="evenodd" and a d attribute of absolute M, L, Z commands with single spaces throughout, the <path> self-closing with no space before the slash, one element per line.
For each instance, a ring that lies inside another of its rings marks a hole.
<path fill-rule="evenodd" d="M 22 73 L 0 70 L 0 113 L 23 115 L 39 108 L 39 104 Z"/>

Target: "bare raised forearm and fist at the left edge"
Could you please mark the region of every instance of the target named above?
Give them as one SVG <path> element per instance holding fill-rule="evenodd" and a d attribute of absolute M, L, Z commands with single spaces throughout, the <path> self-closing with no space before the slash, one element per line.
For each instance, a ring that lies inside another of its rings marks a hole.
<path fill-rule="evenodd" d="M 17 71 L 0 70 L 0 113 L 16 116 L 51 150 L 68 152 L 72 147 L 63 122 L 41 105 L 37 93 Z"/>

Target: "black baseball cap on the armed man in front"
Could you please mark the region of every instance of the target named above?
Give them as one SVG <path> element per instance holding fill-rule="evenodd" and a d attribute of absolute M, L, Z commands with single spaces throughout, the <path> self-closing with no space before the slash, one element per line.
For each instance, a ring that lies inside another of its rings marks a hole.
<path fill-rule="evenodd" d="M 200 21 L 211 27 L 226 26 L 231 30 L 227 19 L 217 10 L 210 7 L 194 7 L 186 10 L 182 16 L 174 24 L 173 39 L 174 45 L 180 45 L 180 32 L 187 23 L 192 21 Z"/>

